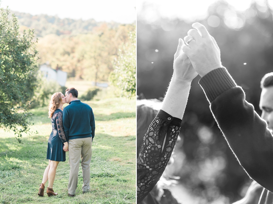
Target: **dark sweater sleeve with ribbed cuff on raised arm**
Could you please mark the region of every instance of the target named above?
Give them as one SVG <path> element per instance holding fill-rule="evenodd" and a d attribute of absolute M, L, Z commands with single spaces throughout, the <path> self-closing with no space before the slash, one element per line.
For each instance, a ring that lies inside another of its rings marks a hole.
<path fill-rule="evenodd" d="M 224 67 L 206 74 L 199 84 L 241 166 L 252 179 L 273 192 L 273 137 L 265 120 L 245 100 L 244 91 Z"/>

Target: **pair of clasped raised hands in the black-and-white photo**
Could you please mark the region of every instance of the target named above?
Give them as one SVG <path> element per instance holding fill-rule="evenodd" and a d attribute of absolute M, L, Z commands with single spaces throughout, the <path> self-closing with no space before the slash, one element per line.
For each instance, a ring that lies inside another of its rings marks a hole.
<path fill-rule="evenodd" d="M 203 77 L 210 71 L 222 67 L 220 49 L 215 39 L 204 25 L 194 23 L 192 27 L 194 29 L 190 29 L 184 38 L 188 46 L 179 38 L 174 54 L 173 79 L 181 83 L 191 83 L 198 74 Z"/>

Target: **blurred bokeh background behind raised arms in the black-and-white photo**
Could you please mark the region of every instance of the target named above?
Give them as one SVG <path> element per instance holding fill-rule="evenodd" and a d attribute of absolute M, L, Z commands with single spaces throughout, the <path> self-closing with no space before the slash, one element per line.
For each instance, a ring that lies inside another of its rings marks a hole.
<path fill-rule="evenodd" d="M 138 1 L 137 95 L 159 99 L 173 73 L 178 39 L 194 22 L 205 25 L 221 49 L 221 61 L 258 114 L 260 81 L 272 72 L 273 1 Z M 198 84 L 192 82 L 170 175 L 182 203 L 232 203 L 251 183 L 224 140 Z"/>

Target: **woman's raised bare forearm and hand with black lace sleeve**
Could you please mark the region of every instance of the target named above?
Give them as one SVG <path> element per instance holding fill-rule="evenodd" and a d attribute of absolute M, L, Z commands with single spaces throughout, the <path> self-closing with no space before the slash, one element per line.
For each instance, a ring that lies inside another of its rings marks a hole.
<path fill-rule="evenodd" d="M 137 159 L 137 202 L 142 201 L 153 189 L 170 160 L 179 135 L 190 84 L 197 76 L 189 58 L 181 50 L 183 44 L 184 41 L 179 39 L 174 54 L 174 74 L 162 109 L 148 128 Z"/>

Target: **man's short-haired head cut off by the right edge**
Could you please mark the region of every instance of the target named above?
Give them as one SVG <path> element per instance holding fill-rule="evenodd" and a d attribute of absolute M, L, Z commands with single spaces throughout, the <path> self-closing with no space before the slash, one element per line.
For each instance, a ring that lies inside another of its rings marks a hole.
<path fill-rule="evenodd" d="M 261 89 L 261 118 L 267 122 L 268 128 L 273 130 L 273 72 L 265 74 L 262 78 Z"/>

